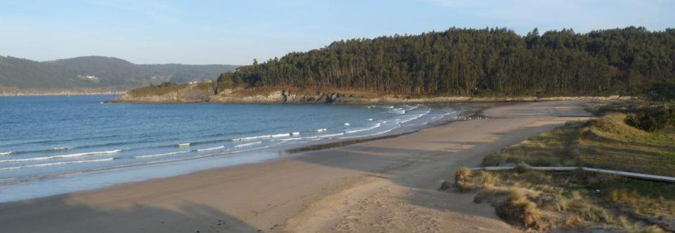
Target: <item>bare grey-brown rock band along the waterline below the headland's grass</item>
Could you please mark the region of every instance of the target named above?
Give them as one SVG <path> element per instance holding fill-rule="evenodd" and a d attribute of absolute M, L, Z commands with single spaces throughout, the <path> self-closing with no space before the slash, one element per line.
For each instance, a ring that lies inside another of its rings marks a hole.
<path fill-rule="evenodd" d="M 292 91 L 273 91 L 266 95 L 233 96 L 234 90 L 225 89 L 217 95 L 190 88 L 181 89 L 163 95 L 133 97 L 121 95 L 111 102 L 293 102 L 293 103 L 338 103 L 338 104 L 377 104 L 377 103 L 416 103 L 416 102 L 524 102 L 552 100 L 626 100 L 630 97 L 613 95 L 609 97 L 518 97 L 518 98 L 473 98 L 473 97 L 434 97 L 434 98 L 396 98 L 385 96 L 380 98 L 356 98 L 339 92 L 323 92 L 317 94 L 297 94 Z"/>

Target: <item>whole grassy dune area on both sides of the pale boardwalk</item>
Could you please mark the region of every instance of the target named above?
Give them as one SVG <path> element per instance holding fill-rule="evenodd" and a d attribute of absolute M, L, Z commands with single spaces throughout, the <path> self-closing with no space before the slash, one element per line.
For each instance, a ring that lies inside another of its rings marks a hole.
<path fill-rule="evenodd" d="M 614 105 L 615 110 L 623 109 L 619 111 L 622 113 L 568 123 L 491 154 L 482 163 L 517 165 L 513 171 L 462 168 L 456 173 L 454 184 L 443 186 L 459 192 L 476 192 L 476 202 L 492 204 L 500 218 L 529 231 L 675 231 L 673 183 L 581 170 L 530 169 L 530 166 L 587 166 L 675 176 L 675 133 L 669 127 L 641 126 L 644 121 L 651 121 L 649 117 L 661 119 L 651 112 L 656 108 L 617 106 L 620 105 Z M 605 106 L 605 110 L 609 109 Z M 667 105 L 660 109 L 670 111 Z"/>

